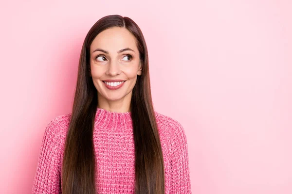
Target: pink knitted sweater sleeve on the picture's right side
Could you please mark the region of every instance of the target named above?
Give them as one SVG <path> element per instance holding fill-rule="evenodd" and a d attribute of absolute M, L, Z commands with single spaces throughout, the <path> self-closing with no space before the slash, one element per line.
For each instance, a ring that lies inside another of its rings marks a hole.
<path fill-rule="evenodd" d="M 191 194 L 188 148 L 183 126 L 178 121 L 171 122 L 170 194 Z"/>

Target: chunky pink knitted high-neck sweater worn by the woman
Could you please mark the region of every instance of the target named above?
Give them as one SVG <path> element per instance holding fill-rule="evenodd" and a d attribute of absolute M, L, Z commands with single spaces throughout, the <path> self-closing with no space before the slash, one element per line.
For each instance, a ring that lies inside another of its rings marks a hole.
<path fill-rule="evenodd" d="M 155 111 L 161 139 L 165 194 L 191 194 L 186 136 L 175 119 Z M 61 170 L 71 113 L 55 117 L 45 129 L 33 194 L 61 194 Z M 93 142 L 98 193 L 133 194 L 135 152 L 131 113 L 97 108 Z"/>

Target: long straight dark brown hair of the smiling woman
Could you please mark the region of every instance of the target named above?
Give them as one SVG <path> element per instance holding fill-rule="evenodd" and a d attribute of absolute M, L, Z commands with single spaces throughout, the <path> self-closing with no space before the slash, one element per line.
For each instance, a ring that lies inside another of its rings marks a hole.
<path fill-rule="evenodd" d="M 129 17 L 104 16 L 90 29 L 82 45 L 71 121 L 62 166 L 63 194 L 95 194 L 93 146 L 97 91 L 90 70 L 90 46 L 110 27 L 128 29 L 135 38 L 142 64 L 132 91 L 130 112 L 135 143 L 135 194 L 164 194 L 164 161 L 150 91 L 148 52 L 138 25 Z M 97 164 L 98 165 L 98 164 Z"/>

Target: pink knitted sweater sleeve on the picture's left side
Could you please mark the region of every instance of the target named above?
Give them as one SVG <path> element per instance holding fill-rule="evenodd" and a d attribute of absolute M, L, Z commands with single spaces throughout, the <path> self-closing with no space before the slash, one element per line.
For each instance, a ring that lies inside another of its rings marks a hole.
<path fill-rule="evenodd" d="M 56 117 L 44 131 L 32 194 L 61 194 L 59 121 Z"/>

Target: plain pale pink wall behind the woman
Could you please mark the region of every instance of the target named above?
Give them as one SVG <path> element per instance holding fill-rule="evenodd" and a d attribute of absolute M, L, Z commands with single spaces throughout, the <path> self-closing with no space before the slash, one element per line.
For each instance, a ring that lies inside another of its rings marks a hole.
<path fill-rule="evenodd" d="M 46 125 L 70 113 L 102 16 L 145 35 L 155 109 L 182 123 L 193 194 L 292 194 L 292 1 L 6 1 L 0 193 L 29 194 Z"/>

